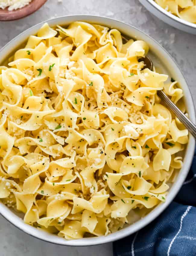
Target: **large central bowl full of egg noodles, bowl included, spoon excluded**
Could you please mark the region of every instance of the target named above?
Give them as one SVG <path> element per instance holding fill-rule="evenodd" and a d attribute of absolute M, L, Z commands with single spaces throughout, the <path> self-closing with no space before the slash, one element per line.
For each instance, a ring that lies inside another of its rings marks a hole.
<path fill-rule="evenodd" d="M 0 212 L 46 241 L 113 241 L 153 220 L 182 185 L 194 140 L 156 91 L 164 88 L 194 120 L 193 103 L 186 104 L 191 95 L 164 49 L 129 25 L 80 15 L 49 25 L 16 38 L 19 50 L 9 60 L 6 47 L 2 50 L 8 67 L 2 66 L 0 75 L 0 195 L 29 225 L 4 204 Z M 138 40 L 123 42 L 118 29 Z M 154 71 L 140 62 L 149 46 Z M 184 90 L 166 75 L 169 58 Z M 185 152 L 183 167 L 179 151 Z"/>

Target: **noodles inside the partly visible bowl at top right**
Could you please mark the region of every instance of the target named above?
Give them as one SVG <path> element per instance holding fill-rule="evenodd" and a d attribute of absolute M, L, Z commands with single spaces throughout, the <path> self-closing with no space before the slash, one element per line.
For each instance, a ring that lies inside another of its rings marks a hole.
<path fill-rule="evenodd" d="M 196 23 L 196 0 L 155 0 L 166 11 L 191 23 Z"/>

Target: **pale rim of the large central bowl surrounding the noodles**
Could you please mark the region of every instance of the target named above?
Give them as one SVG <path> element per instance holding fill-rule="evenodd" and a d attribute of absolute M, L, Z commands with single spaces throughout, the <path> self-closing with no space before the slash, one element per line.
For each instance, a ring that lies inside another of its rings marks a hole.
<path fill-rule="evenodd" d="M 69 19 L 71 19 L 71 21 L 69 21 Z M 107 18 L 107 17 L 103 17 L 103 16 L 98 16 L 98 15 L 65 15 L 65 16 L 61 16 L 61 17 L 57 17 L 57 18 L 53 18 L 53 19 L 49 19 L 49 20 L 40 22 L 40 23 L 28 28 L 27 30 L 25 30 L 21 34 L 17 35 L 15 38 L 13 38 L 10 42 L 8 42 L 0 50 L 0 63 L 5 59 L 5 56 L 4 56 L 1 60 L 1 53 L 6 52 L 6 51 L 9 52 L 9 45 L 16 43 L 16 45 L 19 46 L 21 44 L 20 38 L 22 38 L 22 36 L 24 34 L 26 34 L 27 38 L 28 38 L 29 35 L 31 35 L 31 33 L 33 31 L 38 31 L 40 26 L 43 25 L 45 22 L 48 22 L 49 25 L 57 25 L 57 24 L 63 24 L 63 22 L 64 23 L 66 22 L 67 24 L 69 24 L 73 21 L 78 21 L 78 20 L 79 21 L 86 21 L 86 22 L 91 22 L 91 20 L 93 20 L 93 23 L 97 23 L 97 24 L 99 24 L 99 23 L 100 24 L 108 24 L 108 23 L 111 24 L 112 22 L 113 23 L 115 22 L 116 26 L 117 26 L 117 24 L 121 25 L 122 29 L 123 29 L 123 26 L 125 26 L 125 27 L 128 26 L 131 29 L 139 32 L 141 35 L 143 34 L 150 41 L 155 43 L 156 47 L 159 48 L 161 51 L 163 51 L 164 54 L 167 56 L 167 59 L 170 59 L 172 64 L 175 65 L 175 69 L 179 71 L 180 75 L 184 79 L 185 85 L 187 87 L 186 88 L 187 89 L 186 93 L 188 94 L 187 95 L 187 101 L 191 103 L 188 106 L 188 108 L 189 108 L 189 118 L 193 123 L 195 123 L 195 109 L 194 109 L 194 103 L 193 103 L 191 92 L 188 88 L 187 82 L 186 82 L 186 80 L 185 80 L 185 78 L 182 74 L 182 71 L 180 70 L 179 66 L 177 65 L 175 60 L 172 58 L 172 56 L 158 42 L 156 42 L 156 40 L 151 38 L 146 33 L 142 32 L 140 29 L 138 29 L 138 28 L 136 28 L 132 25 L 129 25 L 125 22 L 121 22 L 119 20 L 116 20 L 116 19 Z M 109 27 L 111 27 L 111 26 L 109 26 Z M 35 28 L 36 28 L 36 30 L 35 30 Z M 24 42 L 24 40 L 22 42 Z M 7 53 L 7 54 L 4 53 L 3 55 L 8 56 L 9 53 Z M 180 170 L 181 175 L 178 175 L 176 181 L 174 182 L 172 188 L 170 189 L 166 202 L 159 204 L 153 211 L 151 211 L 144 218 L 140 219 L 139 221 L 135 222 L 134 224 L 131 224 L 130 226 L 128 226 L 126 228 L 123 228 L 119 231 L 116 231 L 112 234 L 108 234 L 107 236 L 100 236 L 100 237 L 93 237 L 93 238 L 82 238 L 82 239 L 77 239 L 77 240 L 65 240 L 65 238 L 60 238 L 57 235 L 48 234 L 44 231 L 40 231 L 40 230 L 36 229 L 35 227 L 32 227 L 28 224 L 25 224 L 24 221 L 21 218 L 19 218 L 16 214 L 14 214 L 3 203 L 0 203 L 0 214 L 6 220 L 8 220 L 11 224 L 13 224 L 15 227 L 19 228 L 20 230 L 24 231 L 25 233 L 27 233 L 27 234 L 35 237 L 35 238 L 38 238 L 42 241 L 46 241 L 46 242 L 49 242 L 49 243 L 52 243 L 52 244 L 66 245 L 66 246 L 90 246 L 90 245 L 104 244 L 104 243 L 112 242 L 112 241 L 115 241 L 115 240 L 119 240 L 121 238 L 124 238 L 124 237 L 130 235 L 130 234 L 133 234 L 134 232 L 137 232 L 141 228 L 144 228 L 147 224 L 149 224 L 151 221 L 153 221 L 155 218 L 157 218 L 166 209 L 166 207 L 172 202 L 172 200 L 175 198 L 175 196 L 178 193 L 178 191 L 180 190 L 183 182 L 185 181 L 185 178 L 188 174 L 188 171 L 190 169 L 192 159 L 193 159 L 193 156 L 194 156 L 195 140 L 194 140 L 192 135 L 189 135 L 189 141 L 188 141 L 187 148 L 188 148 L 188 150 L 185 151 L 186 152 L 185 158 L 187 158 L 186 166 L 184 165 L 181 168 L 181 170 Z M 190 152 L 187 153 L 187 151 L 190 151 Z"/>

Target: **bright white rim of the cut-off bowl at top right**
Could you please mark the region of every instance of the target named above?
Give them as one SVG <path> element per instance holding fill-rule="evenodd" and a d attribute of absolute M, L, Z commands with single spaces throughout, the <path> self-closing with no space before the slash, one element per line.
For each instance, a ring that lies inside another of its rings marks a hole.
<path fill-rule="evenodd" d="M 172 13 L 166 11 L 164 8 L 162 8 L 160 5 L 158 5 L 154 0 L 146 0 L 146 1 L 149 2 L 154 8 L 156 8 L 157 10 L 162 12 L 164 15 L 166 15 L 168 18 L 175 20 L 176 22 L 179 22 L 180 24 L 188 26 L 189 28 L 190 27 L 195 28 L 195 30 L 196 30 L 196 24 L 188 22 L 186 20 L 179 18 L 178 16 L 173 15 Z M 142 1 L 141 1 L 141 3 L 142 3 Z"/>

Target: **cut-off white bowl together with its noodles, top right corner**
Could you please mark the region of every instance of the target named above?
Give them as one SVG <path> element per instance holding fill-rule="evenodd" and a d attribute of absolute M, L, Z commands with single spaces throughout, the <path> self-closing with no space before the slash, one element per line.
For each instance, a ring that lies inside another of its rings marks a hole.
<path fill-rule="evenodd" d="M 167 24 L 196 34 L 196 5 L 194 0 L 139 0 L 149 12 Z"/>

